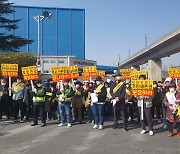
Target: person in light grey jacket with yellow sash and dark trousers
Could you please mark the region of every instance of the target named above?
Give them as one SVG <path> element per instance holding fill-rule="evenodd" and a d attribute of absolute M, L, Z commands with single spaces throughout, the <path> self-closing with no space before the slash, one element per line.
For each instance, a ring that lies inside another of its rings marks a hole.
<path fill-rule="evenodd" d="M 13 101 L 13 123 L 17 122 L 18 114 L 20 110 L 21 120 L 24 122 L 24 116 L 26 114 L 26 100 L 27 100 L 27 87 L 22 82 L 22 77 L 17 78 L 17 82 L 12 85 L 12 101 Z"/>

